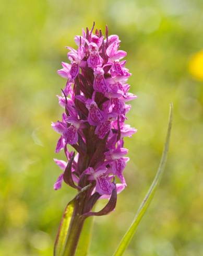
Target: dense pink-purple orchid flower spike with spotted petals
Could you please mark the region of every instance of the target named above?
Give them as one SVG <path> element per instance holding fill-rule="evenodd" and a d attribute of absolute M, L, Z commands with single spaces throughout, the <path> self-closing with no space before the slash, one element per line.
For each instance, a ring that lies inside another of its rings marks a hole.
<path fill-rule="evenodd" d="M 61 188 L 63 180 L 78 190 L 89 185 L 89 201 L 95 195 L 111 197 L 126 187 L 123 170 L 129 158 L 124 137 L 136 132 L 125 124 L 130 110 L 126 102 L 136 98 L 128 92 L 131 74 L 122 60 L 127 53 L 119 50 L 118 36 L 108 36 L 107 27 L 105 37 L 98 29 L 93 34 L 93 28 L 75 37 L 77 50 L 67 47 L 70 64 L 62 62 L 58 70 L 67 83 L 57 96 L 65 111 L 61 121 L 52 123 L 61 134 L 56 153 L 64 149 L 68 161 L 54 159 L 63 170 L 54 189 Z"/>

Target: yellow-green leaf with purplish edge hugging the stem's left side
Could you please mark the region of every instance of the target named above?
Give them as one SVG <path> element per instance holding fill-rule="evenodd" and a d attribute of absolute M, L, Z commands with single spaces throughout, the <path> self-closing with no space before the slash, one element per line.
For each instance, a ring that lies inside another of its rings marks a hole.
<path fill-rule="evenodd" d="M 70 201 L 64 211 L 54 245 L 54 256 L 62 256 L 66 245 L 67 232 L 74 211 L 75 200 Z"/>

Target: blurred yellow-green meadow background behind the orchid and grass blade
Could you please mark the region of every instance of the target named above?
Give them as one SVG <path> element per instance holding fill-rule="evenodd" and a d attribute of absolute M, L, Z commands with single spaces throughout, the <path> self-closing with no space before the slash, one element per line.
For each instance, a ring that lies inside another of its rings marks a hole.
<path fill-rule="evenodd" d="M 90 256 L 109 256 L 147 192 L 159 164 L 169 103 L 174 122 L 168 163 L 125 256 L 203 255 L 203 2 L 201 0 L 10 0 L 0 4 L 0 255 L 52 255 L 75 190 L 53 190 L 61 117 L 56 74 L 82 27 L 118 34 L 128 52 L 132 102 L 128 183 L 116 211 L 94 221 Z M 101 203 L 102 204 L 102 203 Z"/>

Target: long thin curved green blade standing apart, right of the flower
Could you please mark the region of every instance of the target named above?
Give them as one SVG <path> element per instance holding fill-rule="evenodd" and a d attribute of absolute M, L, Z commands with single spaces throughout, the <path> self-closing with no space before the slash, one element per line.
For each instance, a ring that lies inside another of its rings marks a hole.
<path fill-rule="evenodd" d="M 123 239 L 121 240 L 120 245 L 118 246 L 116 252 L 114 253 L 114 256 L 121 256 L 123 255 L 124 251 L 126 250 L 127 246 L 129 245 L 130 240 L 133 238 L 135 231 L 137 230 L 138 224 L 140 223 L 140 220 L 144 216 L 145 212 L 147 211 L 147 208 L 153 199 L 154 193 L 157 190 L 159 181 L 161 180 L 164 166 L 169 150 L 169 142 L 170 142 L 170 135 L 171 135 L 171 127 L 172 127 L 172 114 L 173 114 L 173 104 L 170 104 L 170 114 L 169 114 L 169 124 L 168 124 L 168 132 L 166 135 L 165 145 L 161 157 L 161 161 L 159 164 L 159 168 L 156 174 L 156 177 L 154 178 L 151 187 L 149 191 L 147 192 L 145 199 L 142 201 L 137 214 L 135 215 L 135 218 L 133 220 L 133 223 L 130 225 L 129 229 L 127 230 L 126 234 L 124 235 Z"/>

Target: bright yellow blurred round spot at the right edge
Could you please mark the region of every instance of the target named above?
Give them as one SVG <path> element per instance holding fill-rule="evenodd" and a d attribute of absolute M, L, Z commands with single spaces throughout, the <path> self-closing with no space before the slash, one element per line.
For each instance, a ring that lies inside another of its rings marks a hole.
<path fill-rule="evenodd" d="M 203 81 L 203 50 L 195 53 L 189 61 L 189 72 L 190 74 Z"/>

